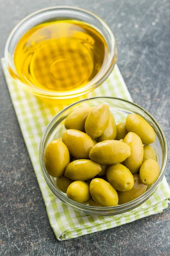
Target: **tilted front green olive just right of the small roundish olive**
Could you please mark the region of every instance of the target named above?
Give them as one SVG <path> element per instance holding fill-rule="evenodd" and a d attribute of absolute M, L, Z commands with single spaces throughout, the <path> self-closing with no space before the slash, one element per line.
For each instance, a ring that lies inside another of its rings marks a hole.
<path fill-rule="evenodd" d="M 118 204 L 116 190 L 103 179 L 95 178 L 91 180 L 90 193 L 94 201 L 102 207 L 116 206 Z"/>

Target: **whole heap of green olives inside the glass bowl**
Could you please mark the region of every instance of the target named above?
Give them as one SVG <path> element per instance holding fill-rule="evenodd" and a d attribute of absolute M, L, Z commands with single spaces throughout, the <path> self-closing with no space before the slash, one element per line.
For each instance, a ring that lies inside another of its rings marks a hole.
<path fill-rule="evenodd" d="M 45 151 L 45 167 L 68 198 L 96 207 L 125 204 L 159 177 L 156 139 L 137 114 L 116 125 L 106 104 L 77 108 L 65 119 L 62 138 Z"/>

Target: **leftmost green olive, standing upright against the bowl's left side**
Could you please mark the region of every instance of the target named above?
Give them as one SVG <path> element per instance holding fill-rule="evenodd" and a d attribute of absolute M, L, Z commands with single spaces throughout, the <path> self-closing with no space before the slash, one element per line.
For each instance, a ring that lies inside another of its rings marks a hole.
<path fill-rule="evenodd" d="M 51 141 L 45 150 L 44 163 L 49 175 L 62 176 L 65 167 L 70 163 L 70 155 L 66 145 L 60 140 Z"/>

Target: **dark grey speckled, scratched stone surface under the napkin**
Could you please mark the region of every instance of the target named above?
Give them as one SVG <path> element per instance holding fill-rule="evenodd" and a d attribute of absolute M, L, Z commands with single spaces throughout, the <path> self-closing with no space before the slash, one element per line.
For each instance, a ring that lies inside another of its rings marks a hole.
<path fill-rule="evenodd" d="M 111 26 L 119 45 L 119 69 L 133 101 L 158 120 L 170 147 L 170 1 L 2 0 L 0 56 L 9 32 L 23 17 L 61 4 L 88 9 Z M 170 255 L 170 207 L 111 230 L 57 241 L 1 68 L 0 88 L 0 255 Z M 170 184 L 170 160 L 166 177 Z"/>

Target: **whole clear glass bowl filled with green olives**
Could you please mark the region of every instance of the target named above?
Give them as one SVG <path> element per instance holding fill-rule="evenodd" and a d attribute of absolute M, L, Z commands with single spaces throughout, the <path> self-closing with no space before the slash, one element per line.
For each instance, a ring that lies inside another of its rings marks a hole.
<path fill-rule="evenodd" d="M 51 191 L 68 206 L 116 215 L 156 190 L 167 165 L 167 142 L 139 105 L 96 97 L 54 117 L 42 136 L 40 165 Z"/>

